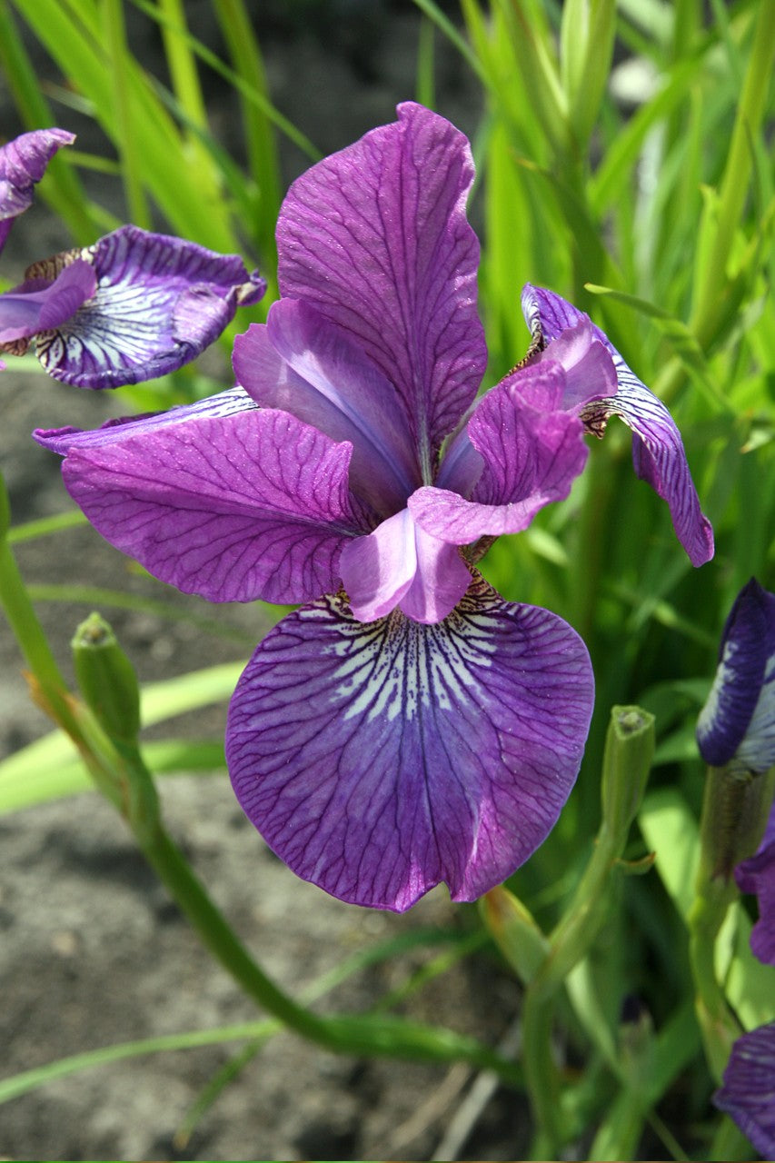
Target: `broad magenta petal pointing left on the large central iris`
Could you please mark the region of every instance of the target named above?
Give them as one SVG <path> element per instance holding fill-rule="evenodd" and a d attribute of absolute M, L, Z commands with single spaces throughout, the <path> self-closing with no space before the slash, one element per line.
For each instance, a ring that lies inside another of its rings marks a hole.
<path fill-rule="evenodd" d="M 38 440 L 66 454 L 67 491 L 107 541 L 211 601 L 334 590 L 342 545 L 368 531 L 350 500 L 349 445 L 253 401 Z"/>

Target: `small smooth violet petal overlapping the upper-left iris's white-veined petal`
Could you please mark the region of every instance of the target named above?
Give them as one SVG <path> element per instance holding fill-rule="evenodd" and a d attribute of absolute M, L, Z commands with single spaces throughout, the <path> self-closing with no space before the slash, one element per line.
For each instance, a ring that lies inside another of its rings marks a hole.
<path fill-rule="evenodd" d="M 19 355 L 38 331 L 59 327 L 74 315 L 95 287 L 92 266 L 76 258 L 54 283 L 29 279 L 0 294 L 0 348 Z"/>

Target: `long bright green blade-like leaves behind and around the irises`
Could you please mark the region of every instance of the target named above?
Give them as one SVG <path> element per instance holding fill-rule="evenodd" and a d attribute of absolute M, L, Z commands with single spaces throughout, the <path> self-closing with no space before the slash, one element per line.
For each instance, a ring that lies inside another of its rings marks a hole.
<path fill-rule="evenodd" d="M 127 221 L 242 254 L 268 279 L 265 300 L 253 314 L 240 315 L 221 341 L 223 379 L 214 384 L 184 369 L 121 388 L 127 408 L 141 412 L 228 386 L 226 357 L 234 335 L 250 317 L 264 319 L 277 295 L 275 224 L 285 185 L 278 142 L 290 141 L 310 164 L 320 154 L 272 102 L 247 0 L 212 0 L 222 56 L 198 38 L 184 0 L 133 5 L 158 26 L 163 77 L 133 55 L 125 0 L 0 0 L 0 67 L 23 128 L 66 127 L 72 107 L 99 122 L 105 135 L 104 155 L 63 150 L 41 184 L 41 198 L 63 223 L 63 249 L 91 243 L 118 226 L 84 190 L 81 177 L 91 169 L 121 184 Z M 569 966 L 570 1004 L 561 1013 L 584 1069 L 578 1085 L 563 1091 L 561 1129 L 546 1126 L 546 1119 L 539 1127 L 535 1157 L 569 1137 L 585 1143 L 590 1158 L 632 1157 L 647 1123 L 671 1157 L 744 1157 L 734 1154 L 746 1148 L 731 1123 L 714 1122 L 719 1116 L 709 1106 L 712 1077 L 692 1015 L 684 926 L 703 792 L 697 712 L 734 595 L 752 576 L 768 588 L 775 577 L 775 308 L 769 294 L 775 184 L 766 140 L 775 5 L 461 0 L 456 7 L 415 0 L 415 6 L 417 88 L 396 99 L 434 106 L 434 57 L 442 40 L 452 43 L 458 69 L 481 87 L 470 214 L 482 236 L 479 309 L 490 354 L 484 386 L 497 383 L 526 351 L 522 284 L 570 299 L 670 407 L 716 533 L 714 559 L 694 570 L 664 506 L 635 479 L 630 436 L 614 420 L 568 500 L 539 513 L 526 533 L 500 538 L 482 564 L 509 600 L 546 606 L 567 619 L 586 642 L 595 669 L 596 713 L 576 790 L 548 841 L 510 882 L 543 933 L 567 919 L 590 859 L 612 705 L 638 704 L 656 719 L 649 791 L 626 850 L 616 855 L 619 869 L 647 875 L 612 877 L 604 935 Z M 58 70 L 58 84 L 41 87 L 26 49 L 30 37 L 50 57 L 50 73 Z M 212 73 L 237 94 L 244 166 L 227 154 L 208 120 L 204 80 Z M 446 112 L 443 104 L 434 107 Z M 384 121 L 391 119 L 386 106 Z M 10 540 L 65 540 L 73 520 L 16 528 Z M 83 594 L 45 586 L 33 597 L 106 606 L 142 602 L 95 595 L 86 582 Z M 161 593 L 154 600 L 162 616 L 163 601 Z M 170 616 L 186 615 L 176 609 Z M 219 628 L 218 608 L 204 605 L 200 629 L 230 633 L 226 623 Z M 145 721 L 228 698 L 234 678 L 228 668 L 228 673 L 191 675 L 177 686 L 161 684 L 145 694 Z M 71 755 L 63 736 L 52 735 L 7 759 L 0 765 L 0 811 L 81 790 L 83 768 Z M 218 740 L 156 742 L 145 759 L 159 775 L 223 769 Z M 657 854 L 655 869 L 646 859 L 650 851 Z M 477 927 L 481 940 L 469 934 L 460 955 L 478 950 L 489 933 L 529 982 L 525 948 L 538 941 L 538 964 L 545 939 L 536 937 L 532 920 L 507 915 L 509 899 L 500 901 L 500 912 L 490 901 L 483 909 L 485 927 Z M 739 905 L 735 909 L 734 926 L 728 921 L 725 930 L 724 956 L 733 970 L 726 997 L 749 1028 L 773 1019 L 775 991 L 772 970 L 748 951 L 748 915 Z M 471 923 L 478 926 L 476 916 Z M 450 948 L 460 940 L 450 935 Z M 391 944 L 375 958 L 401 951 Z M 442 972 L 454 961 L 448 950 L 431 954 L 431 972 L 436 963 Z M 360 968 L 348 963 L 342 976 Z M 543 984 L 548 999 L 549 983 Z M 327 1021 L 276 997 L 247 969 L 242 985 L 280 1022 L 329 1049 L 464 1058 L 497 1070 L 511 1085 L 525 1084 L 512 1063 L 471 1039 L 408 1026 L 382 1012 Z M 421 985 L 410 982 L 410 990 Z M 641 1057 L 632 1049 L 630 1057 L 623 1055 L 618 1043 L 619 1006 L 632 993 L 642 998 L 657 1030 L 644 1035 L 648 1050 Z M 528 1012 L 531 1020 L 538 1019 Z M 275 1028 L 264 1022 L 228 1029 L 223 1040 L 243 1037 L 259 1053 Z M 182 1035 L 175 1044 L 195 1044 L 198 1036 Z M 107 1049 L 54 1063 L 0 1085 L 0 1098 L 111 1057 L 170 1046 L 169 1039 L 151 1040 L 135 1050 L 122 1044 L 114 1054 Z M 654 1111 L 685 1069 L 695 1071 L 695 1085 L 687 1087 L 694 1106 L 683 1125 L 667 1127 Z M 214 1083 L 202 1112 L 232 1073 Z M 704 1137 L 695 1128 L 687 1140 L 688 1125 L 703 1120 Z M 711 1150 L 716 1154 L 709 1156 Z"/>

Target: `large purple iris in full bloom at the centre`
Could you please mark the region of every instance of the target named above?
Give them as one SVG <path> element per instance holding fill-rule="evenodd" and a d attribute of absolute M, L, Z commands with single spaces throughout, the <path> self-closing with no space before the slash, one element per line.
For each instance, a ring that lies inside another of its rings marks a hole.
<path fill-rule="evenodd" d="M 236 387 L 36 434 L 92 523 L 157 577 L 303 604 L 232 699 L 233 785 L 299 876 L 397 911 L 440 882 L 454 900 L 503 882 L 573 787 L 586 649 L 475 564 L 568 495 L 585 431 L 620 412 L 691 559 L 712 554 L 673 421 L 559 295 L 526 288 L 532 355 L 476 401 L 472 178 L 462 134 L 399 106 L 291 187 L 282 299 L 237 338 Z"/>

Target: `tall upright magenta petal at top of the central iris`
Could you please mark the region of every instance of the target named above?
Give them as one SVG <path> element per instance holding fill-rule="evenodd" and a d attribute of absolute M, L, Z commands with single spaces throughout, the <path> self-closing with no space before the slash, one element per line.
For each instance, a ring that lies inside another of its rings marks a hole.
<path fill-rule="evenodd" d="M 277 224 L 283 295 L 348 331 L 396 385 L 426 483 L 486 364 L 472 180 L 463 134 L 407 102 L 298 178 Z"/>

